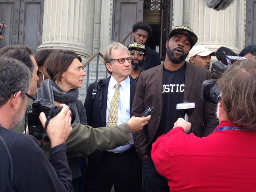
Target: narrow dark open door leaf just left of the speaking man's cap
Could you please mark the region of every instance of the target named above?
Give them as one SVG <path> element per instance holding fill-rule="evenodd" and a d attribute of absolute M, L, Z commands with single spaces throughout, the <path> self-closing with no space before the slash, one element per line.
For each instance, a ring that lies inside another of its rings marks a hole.
<path fill-rule="evenodd" d="M 169 33 L 172 28 L 172 0 L 161 1 L 161 36 L 160 36 L 160 58 L 161 60 L 166 55 L 166 40 L 168 39 Z"/>

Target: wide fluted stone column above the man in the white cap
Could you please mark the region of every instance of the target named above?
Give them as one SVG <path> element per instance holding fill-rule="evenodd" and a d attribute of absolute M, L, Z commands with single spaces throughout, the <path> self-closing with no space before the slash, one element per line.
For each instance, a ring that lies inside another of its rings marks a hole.
<path fill-rule="evenodd" d="M 183 25 L 189 25 L 198 36 L 197 44 L 216 51 L 220 46 L 236 53 L 243 48 L 244 2 L 234 1 L 226 10 L 215 11 L 202 0 L 184 0 Z"/>

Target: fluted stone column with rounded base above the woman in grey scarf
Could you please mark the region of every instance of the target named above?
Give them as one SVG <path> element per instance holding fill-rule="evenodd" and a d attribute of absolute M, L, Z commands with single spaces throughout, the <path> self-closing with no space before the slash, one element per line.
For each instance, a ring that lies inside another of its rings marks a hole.
<path fill-rule="evenodd" d="M 85 47 L 87 0 L 45 0 L 41 49 L 64 49 L 89 58 Z"/>

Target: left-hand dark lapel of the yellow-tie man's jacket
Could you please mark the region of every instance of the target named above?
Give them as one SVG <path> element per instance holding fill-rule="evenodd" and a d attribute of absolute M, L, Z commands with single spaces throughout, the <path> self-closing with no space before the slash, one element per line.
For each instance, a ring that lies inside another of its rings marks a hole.
<path fill-rule="evenodd" d="M 111 76 L 110 76 L 111 77 Z M 106 111 L 107 111 L 107 97 L 108 97 L 108 84 L 110 81 L 110 77 L 103 80 L 102 86 L 102 110 L 101 113 L 101 120 L 102 120 L 102 127 L 106 126 Z"/>

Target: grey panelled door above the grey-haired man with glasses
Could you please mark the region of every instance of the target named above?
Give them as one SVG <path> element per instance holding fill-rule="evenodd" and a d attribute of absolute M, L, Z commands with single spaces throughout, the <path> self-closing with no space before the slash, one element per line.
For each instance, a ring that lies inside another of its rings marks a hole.
<path fill-rule="evenodd" d="M 113 10 L 112 39 L 121 42 L 132 31 L 133 25 L 143 20 L 143 0 L 115 0 Z M 131 34 L 124 44 L 127 46 L 132 41 Z"/>

